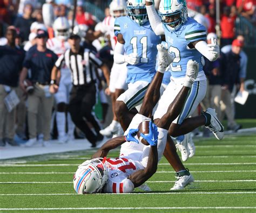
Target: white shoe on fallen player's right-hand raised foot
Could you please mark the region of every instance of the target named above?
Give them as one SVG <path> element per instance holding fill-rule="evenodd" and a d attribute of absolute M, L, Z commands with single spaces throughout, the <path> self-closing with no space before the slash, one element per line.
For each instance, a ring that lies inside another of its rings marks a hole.
<path fill-rule="evenodd" d="M 199 63 L 193 60 L 187 62 L 186 77 L 184 81 L 185 87 L 191 87 L 192 83 L 197 79 Z"/>

